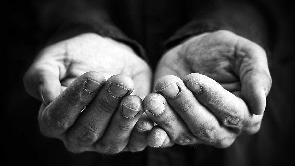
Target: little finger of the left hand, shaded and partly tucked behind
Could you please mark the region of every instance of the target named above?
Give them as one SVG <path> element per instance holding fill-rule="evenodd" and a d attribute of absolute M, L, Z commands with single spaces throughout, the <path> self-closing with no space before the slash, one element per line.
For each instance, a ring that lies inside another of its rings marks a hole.
<path fill-rule="evenodd" d="M 153 121 L 143 113 L 133 128 L 127 147 L 130 152 L 142 151 L 146 146 L 146 136 L 154 126 Z"/>

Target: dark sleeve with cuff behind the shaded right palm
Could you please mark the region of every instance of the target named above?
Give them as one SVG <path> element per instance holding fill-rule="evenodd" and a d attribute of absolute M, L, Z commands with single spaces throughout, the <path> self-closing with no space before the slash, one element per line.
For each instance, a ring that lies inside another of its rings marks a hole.
<path fill-rule="evenodd" d="M 229 30 L 248 38 L 264 49 L 270 47 L 272 25 L 262 4 L 246 1 L 212 1 L 192 4 L 193 17 L 166 41 L 171 48 L 182 40 L 203 32 Z"/>

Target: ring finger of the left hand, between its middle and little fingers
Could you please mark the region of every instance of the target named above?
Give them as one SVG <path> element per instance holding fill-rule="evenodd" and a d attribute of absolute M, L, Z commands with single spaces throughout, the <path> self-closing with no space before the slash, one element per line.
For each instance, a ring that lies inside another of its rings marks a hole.
<path fill-rule="evenodd" d="M 143 113 L 142 100 L 135 95 L 122 99 L 104 135 L 95 143 L 100 153 L 116 154 L 126 147 L 137 120 Z"/>

